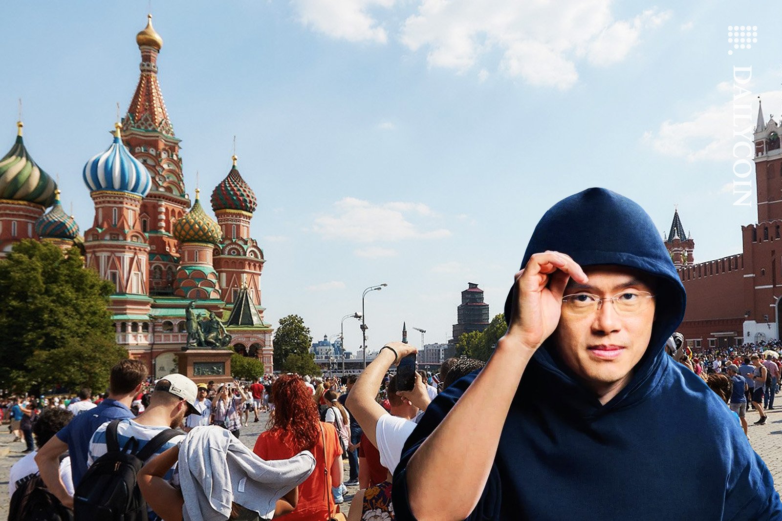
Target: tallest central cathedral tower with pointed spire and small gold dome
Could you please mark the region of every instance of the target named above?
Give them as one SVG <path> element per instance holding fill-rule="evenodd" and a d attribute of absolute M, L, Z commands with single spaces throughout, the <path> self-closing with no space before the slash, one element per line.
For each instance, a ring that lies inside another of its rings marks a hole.
<path fill-rule="evenodd" d="M 123 142 L 152 176 L 152 189 L 143 199 L 139 219 L 149 240 L 150 294 L 172 294 L 179 262 L 174 220 L 185 215 L 190 200 L 185 193 L 179 141 L 168 118 L 157 80 L 157 56 L 163 38 L 152 27 L 136 35 L 142 53 L 138 86 L 122 120 Z"/>

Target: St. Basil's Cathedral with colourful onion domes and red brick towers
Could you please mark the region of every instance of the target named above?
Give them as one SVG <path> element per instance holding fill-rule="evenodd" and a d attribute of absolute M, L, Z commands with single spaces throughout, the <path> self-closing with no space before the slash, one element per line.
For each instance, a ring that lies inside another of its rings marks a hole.
<path fill-rule="evenodd" d="M 55 180 L 27 152 L 20 121 L 16 142 L 0 159 L 0 258 L 26 238 L 80 248 L 85 266 L 117 287 L 109 298 L 117 344 L 148 362 L 156 377 L 177 370 L 175 357 L 187 341 L 185 308 L 194 300 L 198 312 L 223 319 L 235 351 L 260 359 L 271 373 L 272 328 L 260 292 L 264 252 L 249 231 L 256 196 L 234 155 L 212 192 L 217 220 L 203 209 L 198 189 L 191 204 L 180 140 L 157 79 L 163 39 L 151 15 L 136 43 L 141 76 L 127 114 L 109 148 L 84 166 L 92 226 L 80 236 Z"/>

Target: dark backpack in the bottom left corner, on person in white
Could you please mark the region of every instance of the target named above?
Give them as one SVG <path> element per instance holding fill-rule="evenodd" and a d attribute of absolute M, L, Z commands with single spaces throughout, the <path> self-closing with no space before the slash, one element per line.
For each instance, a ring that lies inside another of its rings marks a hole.
<path fill-rule="evenodd" d="M 62 461 L 66 458 L 63 455 Z M 72 521 L 74 515 L 66 509 L 54 494 L 48 491 L 38 473 L 30 474 L 16 482 L 11 496 L 9 521 Z"/>

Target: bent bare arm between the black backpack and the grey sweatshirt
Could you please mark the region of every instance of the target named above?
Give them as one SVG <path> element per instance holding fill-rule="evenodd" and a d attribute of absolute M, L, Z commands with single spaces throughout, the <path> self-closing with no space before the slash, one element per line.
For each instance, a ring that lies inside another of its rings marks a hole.
<path fill-rule="evenodd" d="M 178 458 L 179 445 L 174 445 L 150 459 L 136 476 L 138 490 L 142 491 L 149 508 L 166 521 L 181 521 L 185 506 L 181 491 L 163 479 Z"/>

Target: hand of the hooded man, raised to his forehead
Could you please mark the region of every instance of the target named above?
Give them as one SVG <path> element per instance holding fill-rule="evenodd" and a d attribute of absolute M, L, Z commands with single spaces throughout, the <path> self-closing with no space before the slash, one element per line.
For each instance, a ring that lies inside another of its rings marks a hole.
<path fill-rule="evenodd" d="M 522 346 L 537 349 L 559 323 L 562 297 L 570 277 L 586 284 L 587 274 L 581 266 L 560 252 L 536 253 L 516 273 L 514 299 L 508 333 Z"/>

